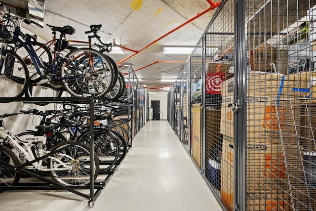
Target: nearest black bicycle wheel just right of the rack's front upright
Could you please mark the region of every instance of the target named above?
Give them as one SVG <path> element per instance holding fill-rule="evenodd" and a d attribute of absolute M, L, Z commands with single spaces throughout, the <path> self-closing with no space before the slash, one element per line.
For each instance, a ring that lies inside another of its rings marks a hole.
<path fill-rule="evenodd" d="M 90 146 L 89 132 L 82 134 L 80 141 Z M 100 161 L 100 171 L 111 169 L 119 157 L 117 137 L 107 129 L 94 129 L 94 152 Z"/>

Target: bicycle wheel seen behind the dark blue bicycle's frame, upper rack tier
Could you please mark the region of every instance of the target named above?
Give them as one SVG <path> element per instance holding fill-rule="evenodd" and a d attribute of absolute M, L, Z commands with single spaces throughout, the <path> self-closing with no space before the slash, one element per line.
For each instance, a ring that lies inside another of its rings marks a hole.
<path fill-rule="evenodd" d="M 32 43 L 32 45 L 33 45 L 34 51 L 39 57 L 40 63 L 44 67 L 48 67 L 50 64 L 52 64 L 53 62 L 52 51 L 46 45 L 40 42 Z M 30 80 L 35 83 L 39 82 L 41 80 L 40 75 L 38 74 L 34 65 L 34 61 L 31 59 L 31 56 L 28 53 L 28 51 L 22 45 L 19 45 L 16 53 L 19 56 L 21 56 L 21 58 L 27 65 L 28 70 L 29 70 Z M 44 70 L 40 69 L 40 71 L 42 74 L 45 74 Z"/>

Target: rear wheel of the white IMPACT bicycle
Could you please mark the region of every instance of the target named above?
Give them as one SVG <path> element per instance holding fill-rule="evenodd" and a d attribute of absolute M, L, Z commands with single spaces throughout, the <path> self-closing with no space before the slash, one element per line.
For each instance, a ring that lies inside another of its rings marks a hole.
<path fill-rule="evenodd" d="M 57 144 L 51 151 L 62 149 L 74 141 L 65 141 Z M 89 148 L 82 144 L 75 144 L 72 147 L 68 147 L 61 152 L 56 153 L 48 160 L 48 168 L 51 170 L 52 178 L 54 181 L 67 185 L 83 186 L 90 182 L 90 152 Z M 55 160 L 57 159 L 57 160 Z M 65 170 L 63 165 L 71 167 L 71 169 Z M 93 177 L 97 178 L 99 174 L 99 160 L 95 156 L 93 162 Z M 60 169 L 60 170 L 59 170 Z"/>

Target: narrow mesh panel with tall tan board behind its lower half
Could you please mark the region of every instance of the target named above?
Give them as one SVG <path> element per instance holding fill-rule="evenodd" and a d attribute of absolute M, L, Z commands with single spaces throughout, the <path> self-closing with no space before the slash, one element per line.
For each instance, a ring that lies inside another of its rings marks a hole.
<path fill-rule="evenodd" d="M 201 168 L 201 87 L 202 87 L 202 42 L 199 42 L 190 58 L 191 82 L 191 155 Z"/>

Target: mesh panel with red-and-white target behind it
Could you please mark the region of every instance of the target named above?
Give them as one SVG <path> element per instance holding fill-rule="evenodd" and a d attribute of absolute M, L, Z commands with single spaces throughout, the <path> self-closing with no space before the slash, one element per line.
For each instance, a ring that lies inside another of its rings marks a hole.
<path fill-rule="evenodd" d="M 225 3 L 205 34 L 205 178 L 230 210 L 233 203 L 234 0 Z"/>

